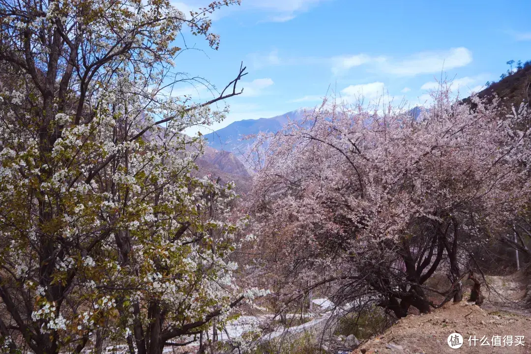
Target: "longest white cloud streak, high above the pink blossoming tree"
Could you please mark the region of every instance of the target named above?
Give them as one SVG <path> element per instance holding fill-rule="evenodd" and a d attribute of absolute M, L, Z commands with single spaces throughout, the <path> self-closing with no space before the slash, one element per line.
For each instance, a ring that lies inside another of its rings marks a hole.
<path fill-rule="evenodd" d="M 332 58 L 332 73 L 344 73 L 354 66 L 371 64 L 374 70 L 397 76 L 414 76 L 450 70 L 472 62 L 472 53 L 465 47 L 440 51 L 422 51 L 396 61 L 383 56 L 366 54 Z"/>

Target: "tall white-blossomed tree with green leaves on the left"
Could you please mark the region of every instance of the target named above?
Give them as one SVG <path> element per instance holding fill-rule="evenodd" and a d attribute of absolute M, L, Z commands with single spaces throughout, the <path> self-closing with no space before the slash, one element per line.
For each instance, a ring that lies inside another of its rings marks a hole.
<path fill-rule="evenodd" d="M 181 132 L 224 117 L 236 77 L 198 103 L 175 45 L 216 48 L 208 15 L 167 0 L 0 0 L 2 352 L 160 354 L 252 300 L 234 281 L 231 185 L 190 176 Z"/>

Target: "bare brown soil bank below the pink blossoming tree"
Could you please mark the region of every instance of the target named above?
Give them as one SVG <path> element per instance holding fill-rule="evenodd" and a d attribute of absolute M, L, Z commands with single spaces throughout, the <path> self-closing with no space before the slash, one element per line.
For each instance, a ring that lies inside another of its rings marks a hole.
<path fill-rule="evenodd" d="M 463 346 L 459 349 L 451 349 L 447 343 L 448 336 L 454 332 L 463 336 Z M 471 336 L 472 346 L 469 344 Z M 478 339 L 475 346 L 474 336 Z M 511 346 L 508 345 L 509 338 L 503 346 L 504 336 L 512 336 Z M 516 336 L 524 336 L 524 346 L 515 345 Z M 493 346 L 498 344 L 498 340 L 501 346 Z M 486 346 L 487 342 L 489 346 Z M 430 314 L 402 318 L 385 333 L 353 352 L 358 353 L 531 353 L 531 317 L 509 312 L 487 312 L 466 301 L 449 303 Z"/>

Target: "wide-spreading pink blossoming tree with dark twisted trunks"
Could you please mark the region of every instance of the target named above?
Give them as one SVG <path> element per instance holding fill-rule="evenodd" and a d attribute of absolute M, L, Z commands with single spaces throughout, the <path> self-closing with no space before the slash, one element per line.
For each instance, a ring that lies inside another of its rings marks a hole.
<path fill-rule="evenodd" d="M 528 201 L 529 110 L 477 97 L 471 109 L 446 85 L 433 99 L 418 117 L 325 101 L 260 134 L 251 226 L 281 301 L 328 285 L 339 305 L 371 301 L 400 318 L 463 297 L 471 251 Z M 451 287 L 426 286 L 435 272 Z"/>

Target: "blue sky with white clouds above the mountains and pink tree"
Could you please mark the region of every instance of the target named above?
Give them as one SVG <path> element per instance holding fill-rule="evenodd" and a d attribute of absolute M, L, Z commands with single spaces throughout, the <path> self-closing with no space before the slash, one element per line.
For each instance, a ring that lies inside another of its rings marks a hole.
<path fill-rule="evenodd" d="M 209 0 L 207 0 L 209 2 Z M 184 12 L 204 0 L 174 2 Z M 222 88 L 247 74 L 244 94 L 227 100 L 230 114 L 211 128 L 236 120 L 272 117 L 318 105 L 325 94 L 353 101 L 385 92 L 410 106 L 424 103 L 435 78 L 454 80 L 461 96 L 497 81 L 510 59 L 531 59 L 531 1 L 242 0 L 212 15 L 219 50 L 185 35 L 179 71 Z M 202 87 L 179 88 L 196 100 Z"/>

